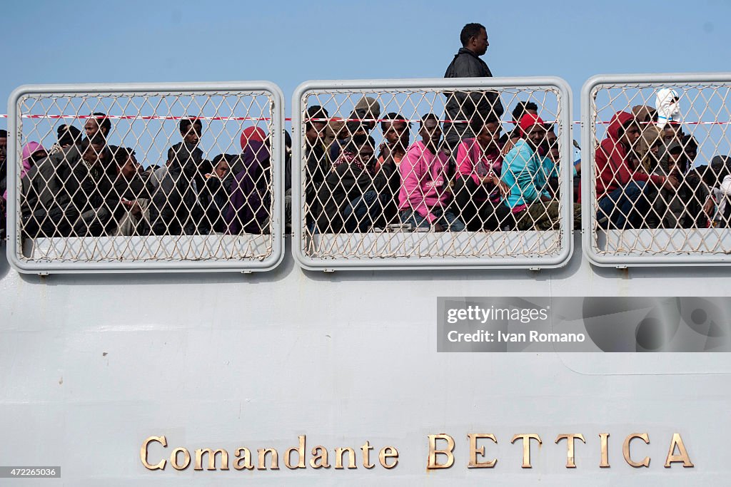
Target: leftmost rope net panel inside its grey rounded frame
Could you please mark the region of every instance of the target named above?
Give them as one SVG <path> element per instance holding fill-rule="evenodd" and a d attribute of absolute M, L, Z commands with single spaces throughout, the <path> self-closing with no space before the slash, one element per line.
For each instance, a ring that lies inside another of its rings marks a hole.
<path fill-rule="evenodd" d="M 265 259 L 272 113 L 265 91 L 21 97 L 18 258 Z"/>

